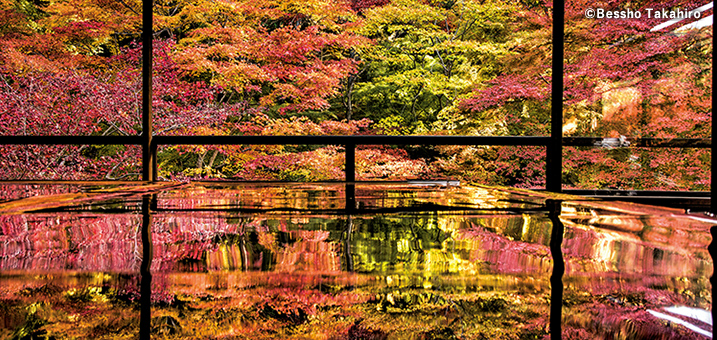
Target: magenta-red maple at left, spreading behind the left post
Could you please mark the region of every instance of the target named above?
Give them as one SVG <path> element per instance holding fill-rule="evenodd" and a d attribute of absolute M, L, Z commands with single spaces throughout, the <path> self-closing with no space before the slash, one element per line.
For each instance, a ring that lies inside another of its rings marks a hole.
<path fill-rule="evenodd" d="M 242 103 L 217 103 L 216 87 L 181 81 L 179 69 L 166 53 L 171 44 L 155 49 L 153 101 L 155 129 L 162 134 L 217 134 L 227 130 L 228 116 L 245 111 Z M 9 135 L 138 135 L 140 48 L 126 48 L 111 60 L 114 69 L 89 75 L 83 70 L 0 75 Z M 89 179 L 136 177 L 137 147 L 3 146 L 8 155 L 6 176 L 30 178 L 28 167 L 46 178 Z M 32 151 L 30 151 L 32 150 Z M 108 157 L 105 159 L 105 157 Z M 112 158 L 112 159 L 111 159 Z M 66 165 L 74 166 L 67 167 Z M 125 174 L 116 174 L 117 167 Z M 35 173 L 37 175 L 37 173 Z"/>

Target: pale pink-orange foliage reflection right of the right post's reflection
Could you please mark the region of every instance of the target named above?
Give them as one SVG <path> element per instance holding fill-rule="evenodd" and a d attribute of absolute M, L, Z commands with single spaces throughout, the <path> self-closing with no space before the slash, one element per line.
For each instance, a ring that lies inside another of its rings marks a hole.
<path fill-rule="evenodd" d="M 567 273 L 709 276 L 710 224 L 677 209 L 631 203 L 583 203 L 595 214 L 566 214 Z M 650 216 L 645 216 L 649 214 Z"/>

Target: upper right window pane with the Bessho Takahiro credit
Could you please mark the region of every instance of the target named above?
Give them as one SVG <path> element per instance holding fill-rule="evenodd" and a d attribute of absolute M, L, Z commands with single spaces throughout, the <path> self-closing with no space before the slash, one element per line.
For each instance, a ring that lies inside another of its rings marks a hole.
<path fill-rule="evenodd" d="M 700 5 L 568 2 L 565 134 L 708 138 L 712 27 L 700 18 L 711 10 L 691 11 Z"/>

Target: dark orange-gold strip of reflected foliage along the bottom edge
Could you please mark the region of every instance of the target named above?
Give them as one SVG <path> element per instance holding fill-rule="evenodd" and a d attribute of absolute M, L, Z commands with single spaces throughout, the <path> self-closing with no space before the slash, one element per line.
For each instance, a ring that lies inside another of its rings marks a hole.
<path fill-rule="evenodd" d="M 300 288 L 300 282 L 301 279 L 297 287 L 281 289 L 271 284 L 227 287 L 216 291 L 216 296 L 201 290 L 177 294 L 168 303 L 154 306 L 153 335 L 163 339 L 306 339 L 306 334 L 312 334 L 343 340 L 543 339 L 549 334 L 548 300 L 542 293 L 397 290 L 375 282 L 344 286 L 350 289 L 340 289 L 343 285 L 339 284 L 339 288 L 323 292 L 321 287 Z M 564 295 L 564 330 L 569 334 L 582 334 L 583 338 L 613 334 L 650 338 L 649 334 L 656 331 L 672 336 L 684 334 L 674 325 L 655 323 L 645 311 L 655 308 L 659 301 L 674 298 L 676 293 L 669 289 L 589 292 L 569 287 Z M 109 303 L 112 294 L 113 290 L 96 286 L 27 290 L 18 296 L 41 296 L 55 302 L 29 303 L 23 308 L 24 322 L 12 335 L 0 334 L 13 340 L 132 338 L 137 332 L 137 311 L 132 306 Z M 70 296 L 75 296 L 74 303 L 87 308 L 57 303 Z M 69 322 L 67 317 L 79 315 L 79 310 L 95 310 L 108 317 L 91 316 Z M 625 315 L 632 319 L 622 317 Z M 609 327 L 592 329 L 589 325 L 595 322 Z"/>

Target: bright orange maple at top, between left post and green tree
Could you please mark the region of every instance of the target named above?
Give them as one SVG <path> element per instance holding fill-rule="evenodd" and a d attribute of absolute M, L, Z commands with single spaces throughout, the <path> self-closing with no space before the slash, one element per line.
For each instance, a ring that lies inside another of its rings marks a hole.
<path fill-rule="evenodd" d="M 324 110 L 365 39 L 340 1 L 193 1 L 158 18 L 178 40 L 182 76 L 221 86 L 230 100 L 279 113 Z"/>

